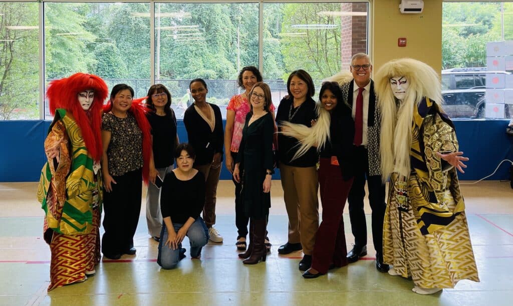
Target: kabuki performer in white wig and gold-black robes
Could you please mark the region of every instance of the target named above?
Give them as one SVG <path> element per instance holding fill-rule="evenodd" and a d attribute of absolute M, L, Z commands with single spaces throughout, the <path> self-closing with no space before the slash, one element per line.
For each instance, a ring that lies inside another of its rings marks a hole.
<path fill-rule="evenodd" d="M 456 171 L 468 159 L 440 105 L 438 74 L 403 58 L 385 63 L 374 80 L 382 177 L 390 178 L 383 229 L 388 273 L 411 277 L 419 294 L 479 281 Z"/>

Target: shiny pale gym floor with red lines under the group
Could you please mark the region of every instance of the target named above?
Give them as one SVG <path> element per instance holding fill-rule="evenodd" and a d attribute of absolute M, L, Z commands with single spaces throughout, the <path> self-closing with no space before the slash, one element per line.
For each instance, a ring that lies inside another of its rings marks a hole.
<path fill-rule="evenodd" d="M 411 280 L 378 272 L 370 236 L 363 260 L 304 279 L 298 270 L 303 254 L 277 252 L 287 240 L 288 224 L 280 181 L 272 182 L 268 231 L 273 246 L 265 263 L 245 266 L 238 258 L 234 188 L 231 181 L 221 181 L 215 227 L 224 242 L 209 242 L 200 259 L 191 259 L 186 238 L 187 257 L 174 270 L 161 269 L 156 264 L 157 243 L 147 233 L 143 191 L 134 238 L 137 253 L 103 259 L 95 276 L 47 293 L 50 250 L 42 237 L 43 210 L 35 200 L 36 186 L 0 183 L 0 305 L 510 305 L 513 300 L 509 182 L 462 184 L 481 282 L 462 280 L 456 288 L 430 296 L 413 293 Z M 370 235 L 370 208 L 367 202 L 365 206 Z M 350 250 L 347 205 L 344 222 Z"/>

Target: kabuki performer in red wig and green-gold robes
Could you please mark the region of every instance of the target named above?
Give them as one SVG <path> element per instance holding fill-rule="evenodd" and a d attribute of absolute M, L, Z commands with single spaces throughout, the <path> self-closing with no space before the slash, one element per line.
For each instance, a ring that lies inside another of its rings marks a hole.
<path fill-rule="evenodd" d="M 54 80 L 47 90 L 55 117 L 37 199 L 46 213 L 43 231 L 51 251 L 48 291 L 86 280 L 100 260 L 100 126 L 107 95 L 105 82 L 85 73 Z"/>

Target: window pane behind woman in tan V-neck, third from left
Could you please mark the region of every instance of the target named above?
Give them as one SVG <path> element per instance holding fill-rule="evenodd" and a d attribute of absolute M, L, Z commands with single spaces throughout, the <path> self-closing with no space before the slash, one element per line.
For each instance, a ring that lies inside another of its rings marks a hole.
<path fill-rule="evenodd" d="M 194 78 L 206 80 L 208 102 L 226 117 L 239 71 L 258 67 L 258 9 L 258 3 L 155 4 L 155 82 L 170 90 L 176 117 L 192 103 Z"/>

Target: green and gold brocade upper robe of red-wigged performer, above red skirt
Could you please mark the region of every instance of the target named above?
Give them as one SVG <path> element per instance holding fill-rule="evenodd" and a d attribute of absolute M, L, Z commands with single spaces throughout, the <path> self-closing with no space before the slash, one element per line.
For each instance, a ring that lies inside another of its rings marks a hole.
<path fill-rule="evenodd" d="M 47 228 L 66 235 L 89 234 L 94 229 L 93 209 L 101 212 L 103 190 L 100 171 L 94 174 L 94 161 L 85 146 L 76 122 L 58 109 L 45 140 L 45 150 L 61 143 L 60 161 L 44 165 L 37 199 L 46 213 Z"/>

